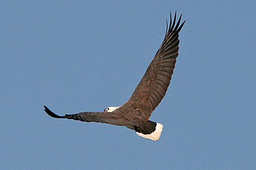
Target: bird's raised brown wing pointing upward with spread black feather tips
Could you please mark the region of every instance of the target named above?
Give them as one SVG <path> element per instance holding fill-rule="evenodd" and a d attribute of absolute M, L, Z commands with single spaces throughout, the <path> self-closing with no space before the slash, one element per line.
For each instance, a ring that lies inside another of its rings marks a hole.
<path fill-rule="evenodd" d="M 124 104 L 124 106 L 132 106 L 133 109 L 140 110 L 143 119 L 149 119 L 151 113 L 161 102 L 166 94 L 167 88 L 170 84 L 170 79 L 173 74 L 176 58 L 179 50 L 179 32 L 183 27 L 185 21 L 179 26 L 177 22 L 175 28 L 176 12 L 172 24 L 172 17 L 170 15 L 170 25 L 168 32 L 164 37 L 163 43 L 153 61 L 150 63 L 148 70 L 145 72 L 141 82 L 139 82 L 131 98 Z"/>

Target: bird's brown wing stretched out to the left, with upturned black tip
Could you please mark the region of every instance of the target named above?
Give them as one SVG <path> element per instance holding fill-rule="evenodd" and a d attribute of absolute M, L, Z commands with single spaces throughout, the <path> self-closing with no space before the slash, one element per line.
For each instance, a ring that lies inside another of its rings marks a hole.
<path fill-rule="evenodd" d="M 82 122 L 99 122 L 108 123 L 113 125 L 131 125 L 131 122 L 127 121 L 120 115 L 113 114 L 113 112 L 81 112 L 79 114 L 58 116 L 54 114 L 50 109 L 44 106 L 46 114 L 54 118 L 68 118 Z"/>

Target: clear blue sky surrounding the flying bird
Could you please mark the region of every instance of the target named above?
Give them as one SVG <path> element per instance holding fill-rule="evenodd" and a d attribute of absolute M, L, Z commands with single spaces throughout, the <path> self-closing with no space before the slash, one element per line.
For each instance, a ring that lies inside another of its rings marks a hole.
<path fill-rule="evenodd" d="M 1 1 L 3 169 L 254 169 L 255 1 Z M 151 120 L 125 127 L 54 119 L 129 99 L 166 32 L 186 24 Z"/>

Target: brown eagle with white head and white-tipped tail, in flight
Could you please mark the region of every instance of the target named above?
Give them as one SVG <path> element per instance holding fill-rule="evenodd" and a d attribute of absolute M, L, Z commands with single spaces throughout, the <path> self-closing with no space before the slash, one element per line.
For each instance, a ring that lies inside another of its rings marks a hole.
<path fill-rule="evenodd" d="M 149 121 L 149 117 L 161 102 L 170 84 L 179 51 L 179 32 L 184 26 L 180 24 L 181 16 L 175 26 L 176 12 L 172 23 L 166 24 L 166 35 L 156 52 L 143 78 L 139 82 L 129 100 L 118 107 L 108 107 L 103 112 L 80 112 L 58 116 L 46 106 L 45 112 L 54 118 L 68 118 L 82 122 L 108 123 L 125 126 L 135 130 L 136 134 L 151 140 L 159 140 L 163 125 Z M 167 22 L 166 22 L 167 23 Z"/>

